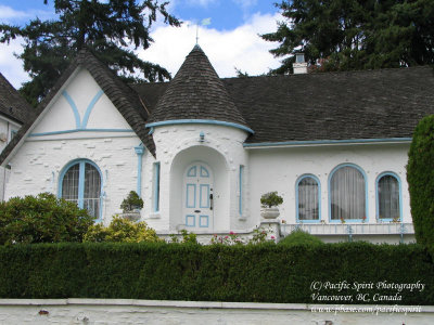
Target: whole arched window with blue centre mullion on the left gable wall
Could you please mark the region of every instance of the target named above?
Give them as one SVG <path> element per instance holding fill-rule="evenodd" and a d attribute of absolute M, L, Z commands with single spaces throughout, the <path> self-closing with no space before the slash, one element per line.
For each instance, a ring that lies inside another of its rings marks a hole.
<path fill-rule="evenodd" d="M 60 196 L 87 209 L 89 214 L 101 216 L 101 173 L 90 160 L 75 160 L 61 174 Z"/>

